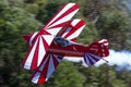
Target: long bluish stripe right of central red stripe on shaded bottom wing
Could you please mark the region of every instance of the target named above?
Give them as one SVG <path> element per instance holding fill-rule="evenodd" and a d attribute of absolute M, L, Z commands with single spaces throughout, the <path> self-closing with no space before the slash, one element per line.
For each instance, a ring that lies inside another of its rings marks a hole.
<path fill-rule="evenodd" d="M 49 58 L 49 65 L 48 65 L 48 72 L 47 72 L 47 75 L 46 75 L 46 78 L 48 79 L 49 76 L 51 75 L 51 73 L 55 71 L 55 65 L 53 65 L 53 61 L 52 61 L 52 54 L 50 54 L 50 58 Z"/>

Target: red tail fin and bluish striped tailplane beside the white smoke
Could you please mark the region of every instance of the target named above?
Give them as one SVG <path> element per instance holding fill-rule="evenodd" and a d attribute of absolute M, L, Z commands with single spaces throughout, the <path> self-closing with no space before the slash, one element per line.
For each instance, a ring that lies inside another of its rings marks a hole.
<path fill-rule="evenodd" d="M 87 46 L 87 52 L 84 54 L 84 61 L 90 66 L 95 64 L 104 57 L 109 55 L 108 50 L 109 41 L 106 39 L 97 40 L 90 46 Z"/>

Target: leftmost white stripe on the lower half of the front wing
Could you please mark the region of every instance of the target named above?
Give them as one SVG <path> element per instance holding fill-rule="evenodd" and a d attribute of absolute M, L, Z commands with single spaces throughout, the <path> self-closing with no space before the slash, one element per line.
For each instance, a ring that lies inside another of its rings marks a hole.
<path fill-rule="evenodd" d="M 26 70 L 31 69 L 31 64 L 32 64 L 32 61 L 33 61 L 33 57 L 34 57 L 34 52 L 36 50 L 37 42 L 38 42 L 38 38 L 37 38 L 35 45 L 34 45 L 33 49 L 31 50 L 31 52 L 29 52 L 29 54 L 27 57 L 27 60 L 25 62 L 24 69 L 26 69 Z"/>

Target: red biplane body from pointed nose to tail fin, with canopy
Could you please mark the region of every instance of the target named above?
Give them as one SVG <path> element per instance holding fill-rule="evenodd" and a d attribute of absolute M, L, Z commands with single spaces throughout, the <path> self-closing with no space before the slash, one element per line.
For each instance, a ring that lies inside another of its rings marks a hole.
<path fill-rule="evenodd" d="M 37 33 L 34 33 L 31 35 L 26 35 L 23 38 L 32 47 L 32 45 L 34 45 L 34 42 L 36 41 L 36 36 Z M 108 45 L 105 46 L 103 42 L 108 44 L 108 41 L 107 40 L 100 41 L 95 41 L 88 46 L 84 46 L 62 37 L 55 37 L 46 52 L 51 52 L 53 54 L 62 57 L 84 57 L 85 52 L 90 52 L 92 54 L 99 57 L 107 57 L 109 54 L 107 47 Z"/>

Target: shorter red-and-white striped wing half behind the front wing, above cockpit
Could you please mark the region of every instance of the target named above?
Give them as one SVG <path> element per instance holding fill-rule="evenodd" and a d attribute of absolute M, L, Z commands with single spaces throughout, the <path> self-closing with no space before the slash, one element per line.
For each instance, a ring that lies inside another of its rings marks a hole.
<path fill-rule="evenodd" d="M 74 41 L 84 27 L 85 22 L 83 20 L 73 20 L 63 28 L 60 36 Z"/>

